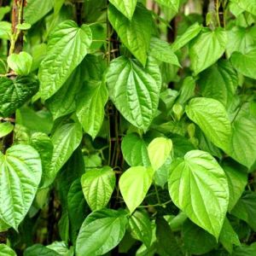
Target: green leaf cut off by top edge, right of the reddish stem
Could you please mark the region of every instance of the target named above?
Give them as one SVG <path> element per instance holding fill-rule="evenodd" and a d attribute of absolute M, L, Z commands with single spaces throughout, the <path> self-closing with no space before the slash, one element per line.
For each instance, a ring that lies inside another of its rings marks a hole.
<path fill-rule="evenodd" d="M 47 15 L 51 9 L 53 9 L 52 0 L 26 0 L 24 20 L 33 25 Z"/>

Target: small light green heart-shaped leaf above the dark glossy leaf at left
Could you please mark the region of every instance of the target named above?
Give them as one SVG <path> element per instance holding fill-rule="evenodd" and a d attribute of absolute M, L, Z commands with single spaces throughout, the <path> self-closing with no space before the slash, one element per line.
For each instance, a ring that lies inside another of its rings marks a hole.
<path fill-rule="evenodd" d="M 7 58 L 9 67 L 19 75 L 28 75 L 32 67 L 32 55 L 29 55 L 25 51 L 21 51 L 19 54 L 9 55 Z"/>

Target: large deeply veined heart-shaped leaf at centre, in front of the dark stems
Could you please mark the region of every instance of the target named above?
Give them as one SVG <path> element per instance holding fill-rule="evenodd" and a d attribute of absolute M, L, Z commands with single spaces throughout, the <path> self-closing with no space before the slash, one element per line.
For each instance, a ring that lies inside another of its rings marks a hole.
<path fill-rule="evenodd" d="M 146 131 L 154 118 L 160 98 L 160 69 L 148 61 L 143 68 L 124 56 L 110 63 L 108 91 L 120 113 L 132 125 Z"/>

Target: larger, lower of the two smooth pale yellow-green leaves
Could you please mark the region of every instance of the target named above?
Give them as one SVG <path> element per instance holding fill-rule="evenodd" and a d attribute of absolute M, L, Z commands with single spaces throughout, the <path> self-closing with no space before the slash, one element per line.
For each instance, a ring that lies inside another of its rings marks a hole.
<path fill-rule="evenodd" d="M 119 179 L 119 189 L 130 212 L 143 202 L 152 183 L 154 171 L 149 167 L 131 167 Z"/>

